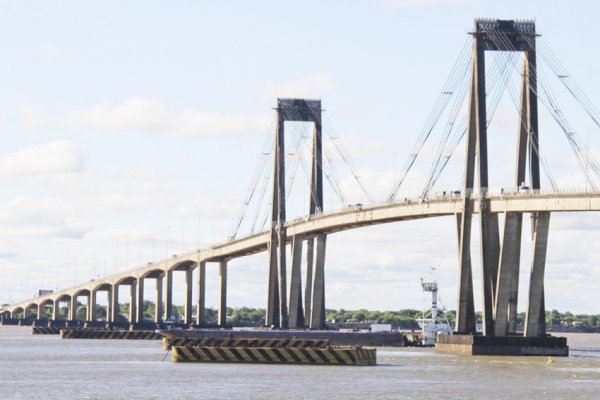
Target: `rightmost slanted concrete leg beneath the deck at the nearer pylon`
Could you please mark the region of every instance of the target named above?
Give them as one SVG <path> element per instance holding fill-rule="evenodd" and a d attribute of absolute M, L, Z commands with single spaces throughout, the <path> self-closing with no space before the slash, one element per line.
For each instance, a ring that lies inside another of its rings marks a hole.
<path fill-rule="evenodd" d="M 533 261 L 529 278 L 529 305 L 525 319 L 525 336 L 542 337 L 546 334 L 544 272 L 546 268 L 550 213 L 535 213 L 533 225 Z"/>

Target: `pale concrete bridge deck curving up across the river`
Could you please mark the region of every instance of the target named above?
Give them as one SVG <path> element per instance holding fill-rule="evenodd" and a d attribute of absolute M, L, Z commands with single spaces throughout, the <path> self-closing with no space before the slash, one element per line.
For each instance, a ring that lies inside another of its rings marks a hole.
<path fill-rule="evenodd" d="M 478 210 L 481 199 L 474 196 L 471 201 L 474 202 L 473 209 Z M 597 192 L 526 192 L 491 195 L 486 198 L 486 201 L 489 202 L 490 210 L 495 213 L 600 211 L 600 193 Z M 331 234 L 377 224 L 455 215 L 462 212 L 462 204 L 463 198 L 456 195 L 416 200 L 406 199 L 396 203 L 374 206 L 357 204 L 336 212 L 287 222 L 287 241 L 290 242 L 296 235 L 310 237 L 319 233 Z M 267 250 L 269 240 L 269 231 L 228 240 L 206 249 L 173 256 L 156 263 L 148 263 L 142 267 L 119 274 L 91 280 L 78 286 L 4 306 L 0 308 L 0 312 L 13 312 L 32 304 L 55 301 L 63 296 L 72 296 L 78 292 L 97 290 L 105 285 L 119 284 L 127 279 L 149 277 L 156 271 L 177 270 L 190 265 L 190 263 L 229 260 L 259 253 Z"/>

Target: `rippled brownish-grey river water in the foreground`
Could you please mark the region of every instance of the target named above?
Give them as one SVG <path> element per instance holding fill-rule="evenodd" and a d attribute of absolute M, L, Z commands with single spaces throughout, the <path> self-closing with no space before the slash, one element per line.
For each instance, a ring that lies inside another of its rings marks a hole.
<path fill-rule="evenodd" d="M 375 367 L 173 363 L 160 341 L 61 340 L 0 326 L 0 399 L 599 399 L 600 334 L 571 355 L 379 348 Z"/>

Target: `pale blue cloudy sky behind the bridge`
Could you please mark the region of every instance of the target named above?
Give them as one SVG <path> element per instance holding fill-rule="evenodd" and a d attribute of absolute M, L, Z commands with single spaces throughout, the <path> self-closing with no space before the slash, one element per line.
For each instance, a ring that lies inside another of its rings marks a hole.
<path fill-rule="evenodd" d="M 329 147 L 345 203 L 385 199 L 476 17 L 535 18 L 544 43 L 600 104 L 598 11 L 594 1 L 2 1 L 0 303 L 231 235 L 267 157 L 277 97 L 322 99 L 328 140 L 352 161 L 349 168 Z M 513 176 L 516 111 L 507 96 L 490 127 L 494 188 Z M 600 157 L 599 129 L 572 109 L 570 124 Z M 559 188 L 584 188 L 564 135 L 543 111 L 540 120 Z M 400 196 L 420 194 L 437 141 L 424 146 Z M 438 190 L 460 185 L 462 148 Z M 289 219 L 307 207 L 303 174 L 299 167 Z M 344 206 L 332 186 L 325 190 L 326 209 Z M 599 222 L 552 216 L 548 308 L 600 313 Z M 456 246 L 453 218 L 332 235 L 327 305 L 421 308 L 419 278 L 434 266 L 453 308 Z M 524 243 L 523 309 L 528 249 Z M 229 279 L 230 305 L 264 307 L 266 255 L 232 261 Z"/>

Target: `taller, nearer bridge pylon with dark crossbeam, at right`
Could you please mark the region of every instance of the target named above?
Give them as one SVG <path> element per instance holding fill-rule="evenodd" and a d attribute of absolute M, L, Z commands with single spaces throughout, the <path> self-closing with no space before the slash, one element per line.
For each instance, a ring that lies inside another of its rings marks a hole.
<path fill-rule="evenodd" d="M 540 189 L 537 113 L 536 30 L 531 20 L 476 19 L 472 32 L 469 125 L 465 160 L 463 213 L 458 216 L 459 290 L 456 331 L 475 332 L 471 270 L 471 220 L 475 173 L 480 201 L 482 325 L 486 336 L 506 336 L 516 330 L 517 296 L 523 213 L 507 212 L 500 242 L 498 214 L 489 210 L 485 52 L 523 52 L 523 75 L 518 130 L 515 187 Z M 477 160 L 477 164 L 475 161 Z M 529 163 L 529 185 L 526 169 Z M 544 336 L 544 269 L 549 212 L 532 215 L 533 261 L 525 336 Z"/>

